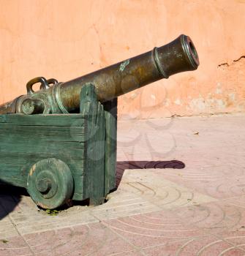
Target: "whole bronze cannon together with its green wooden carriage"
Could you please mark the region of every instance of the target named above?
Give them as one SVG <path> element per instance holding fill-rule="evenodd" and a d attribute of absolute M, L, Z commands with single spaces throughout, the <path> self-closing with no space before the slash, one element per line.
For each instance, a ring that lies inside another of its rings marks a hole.
<path fill-rule="evenodd" d="M 26 95 L 0 106 L 0 184 L 26 188 L 42 208 L 103 203 L 116 187 L 117 97 L 198 65 L 192 40 L 181 35 L 65 83 L 30 80 Z"/>

